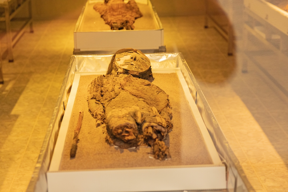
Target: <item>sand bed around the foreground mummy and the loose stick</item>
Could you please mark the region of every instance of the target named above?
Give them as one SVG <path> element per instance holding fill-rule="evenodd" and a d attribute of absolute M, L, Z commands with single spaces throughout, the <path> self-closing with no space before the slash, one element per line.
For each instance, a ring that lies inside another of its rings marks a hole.
<path fill-rule="evenodd" d="M 174 128 L 169 133 L 172 158 L 166 161 L 149 158 L 150 148 L 142 147 L 137 151 L 128 151 L 128 149 L 120 150 L 108 145 L 102 129 L 96 128 L 96 120 L 88 111 L 88 85 L 97 75 L 84 75 L 80 77 L 59 170 L 212 164 L 177 74 L 154 73 L 153 75 L 155 77 L 153 83 L 169 95 L 172 107 Z M 79 111 L 84 111 L 82 128 L 76 157 L 70 159 L 71 143 Z"/>

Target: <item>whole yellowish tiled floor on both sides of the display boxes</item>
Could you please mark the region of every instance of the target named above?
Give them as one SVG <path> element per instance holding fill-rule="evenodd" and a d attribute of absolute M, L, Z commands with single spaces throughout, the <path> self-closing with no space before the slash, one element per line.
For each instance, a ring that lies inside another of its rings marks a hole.
<path fill-rule="evenodd" d="M 203 16 L 162 17 L 168 52 L 182 52 L 256 191 L 288 191 L 287 96 L 249 62 L 248 73 Z M 76 20 L 35 22 L 3 61 L 0 192 L 25 191 L 56 103 Z M 236 55 L 237 56 L 237 55 Z"/>

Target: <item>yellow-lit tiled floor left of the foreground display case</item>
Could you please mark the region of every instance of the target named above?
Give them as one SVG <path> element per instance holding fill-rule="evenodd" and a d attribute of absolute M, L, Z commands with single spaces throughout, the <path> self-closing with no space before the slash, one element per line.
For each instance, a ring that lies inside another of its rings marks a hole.
<path fill-rule="evenodd" d="M 3 61 L 0 191 L 26 191 L 70 56 L 75 20 L 35 22 Z"/>

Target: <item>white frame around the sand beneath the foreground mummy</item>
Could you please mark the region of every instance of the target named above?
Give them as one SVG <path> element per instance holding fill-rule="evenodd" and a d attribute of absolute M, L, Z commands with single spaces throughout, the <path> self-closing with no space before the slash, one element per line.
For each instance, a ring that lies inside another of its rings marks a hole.
<path fill-rule="evenodd" d="M 94 170 L 59 170 L 65 145 L 66 134 L 70 122 L 72 108 L 78 89 L 79 79 L 82 75 L 105 74 L 110 56 L 98 57 L 97 60 L 104 64 L 98 68 L 79 68 L 80 73 L 75 73 L 71 93 L 67 102 L 56 146 L 54 148 L 49 171 L 47 172 L 48 192 L 57 191 L 88 191 L 88 192 L 124 192 L 124 191 L 175 191 L 175 190 L 203 190 L 203 189 L 226 189 L 226 167 L 222 164 L 215 149 L 213 141 L 207 131 L 199 110 L 191 95 L 190 88 L 186 83 L 187 77 L 183 76 L 180 68 L 173 68 L 179 58 L 174 60 L 167 58 L 169 54 L 163 54 L 163 59 L 153 60 L 150 57 L 152 72 L 176 73 L 182 85 L 185 97 L 189 103 L 194 119 L 200 129 L 206 149 L 212 160 L 211 164 L 187 165 L 187 166 L 155 166 L 155 167 L 131 167 L 131 168 L 109 168 Z M 165 59 L 168 59 L 165 61 Z M 163 61 L 164 60 L 164 63 Z M 94 66 L 93 56 L 85 58 L 86 66 Z M 76 61 L 77 62 L 77 61 Z M 163 66 L 167 68 L 163 68 Z M 87 73 L 89 71 L 98 72 Z M 81 72 L 86 71 L 86 72 Z M 108 144 L 107 144 L 108 145 Z M 147 157 L 148 158 L 148 157 Z M 173 157 L 172 157 L 173 158 Z M 169 160 L 168 160 L 169 161 Z"/>

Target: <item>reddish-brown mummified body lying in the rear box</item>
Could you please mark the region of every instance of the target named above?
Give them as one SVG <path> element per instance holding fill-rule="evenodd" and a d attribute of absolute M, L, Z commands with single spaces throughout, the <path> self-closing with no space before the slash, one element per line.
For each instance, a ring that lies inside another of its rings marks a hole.
<path fill-rule="evenodd" d="M 112 30 L 134 29 L 135 19 L 142 17 L 142 13 L 134 0 L 124 3 L 124 0 L 105 0 L 104 3 L 96 3 L 94 9 L 101 14 L 105 24 Z"/>

